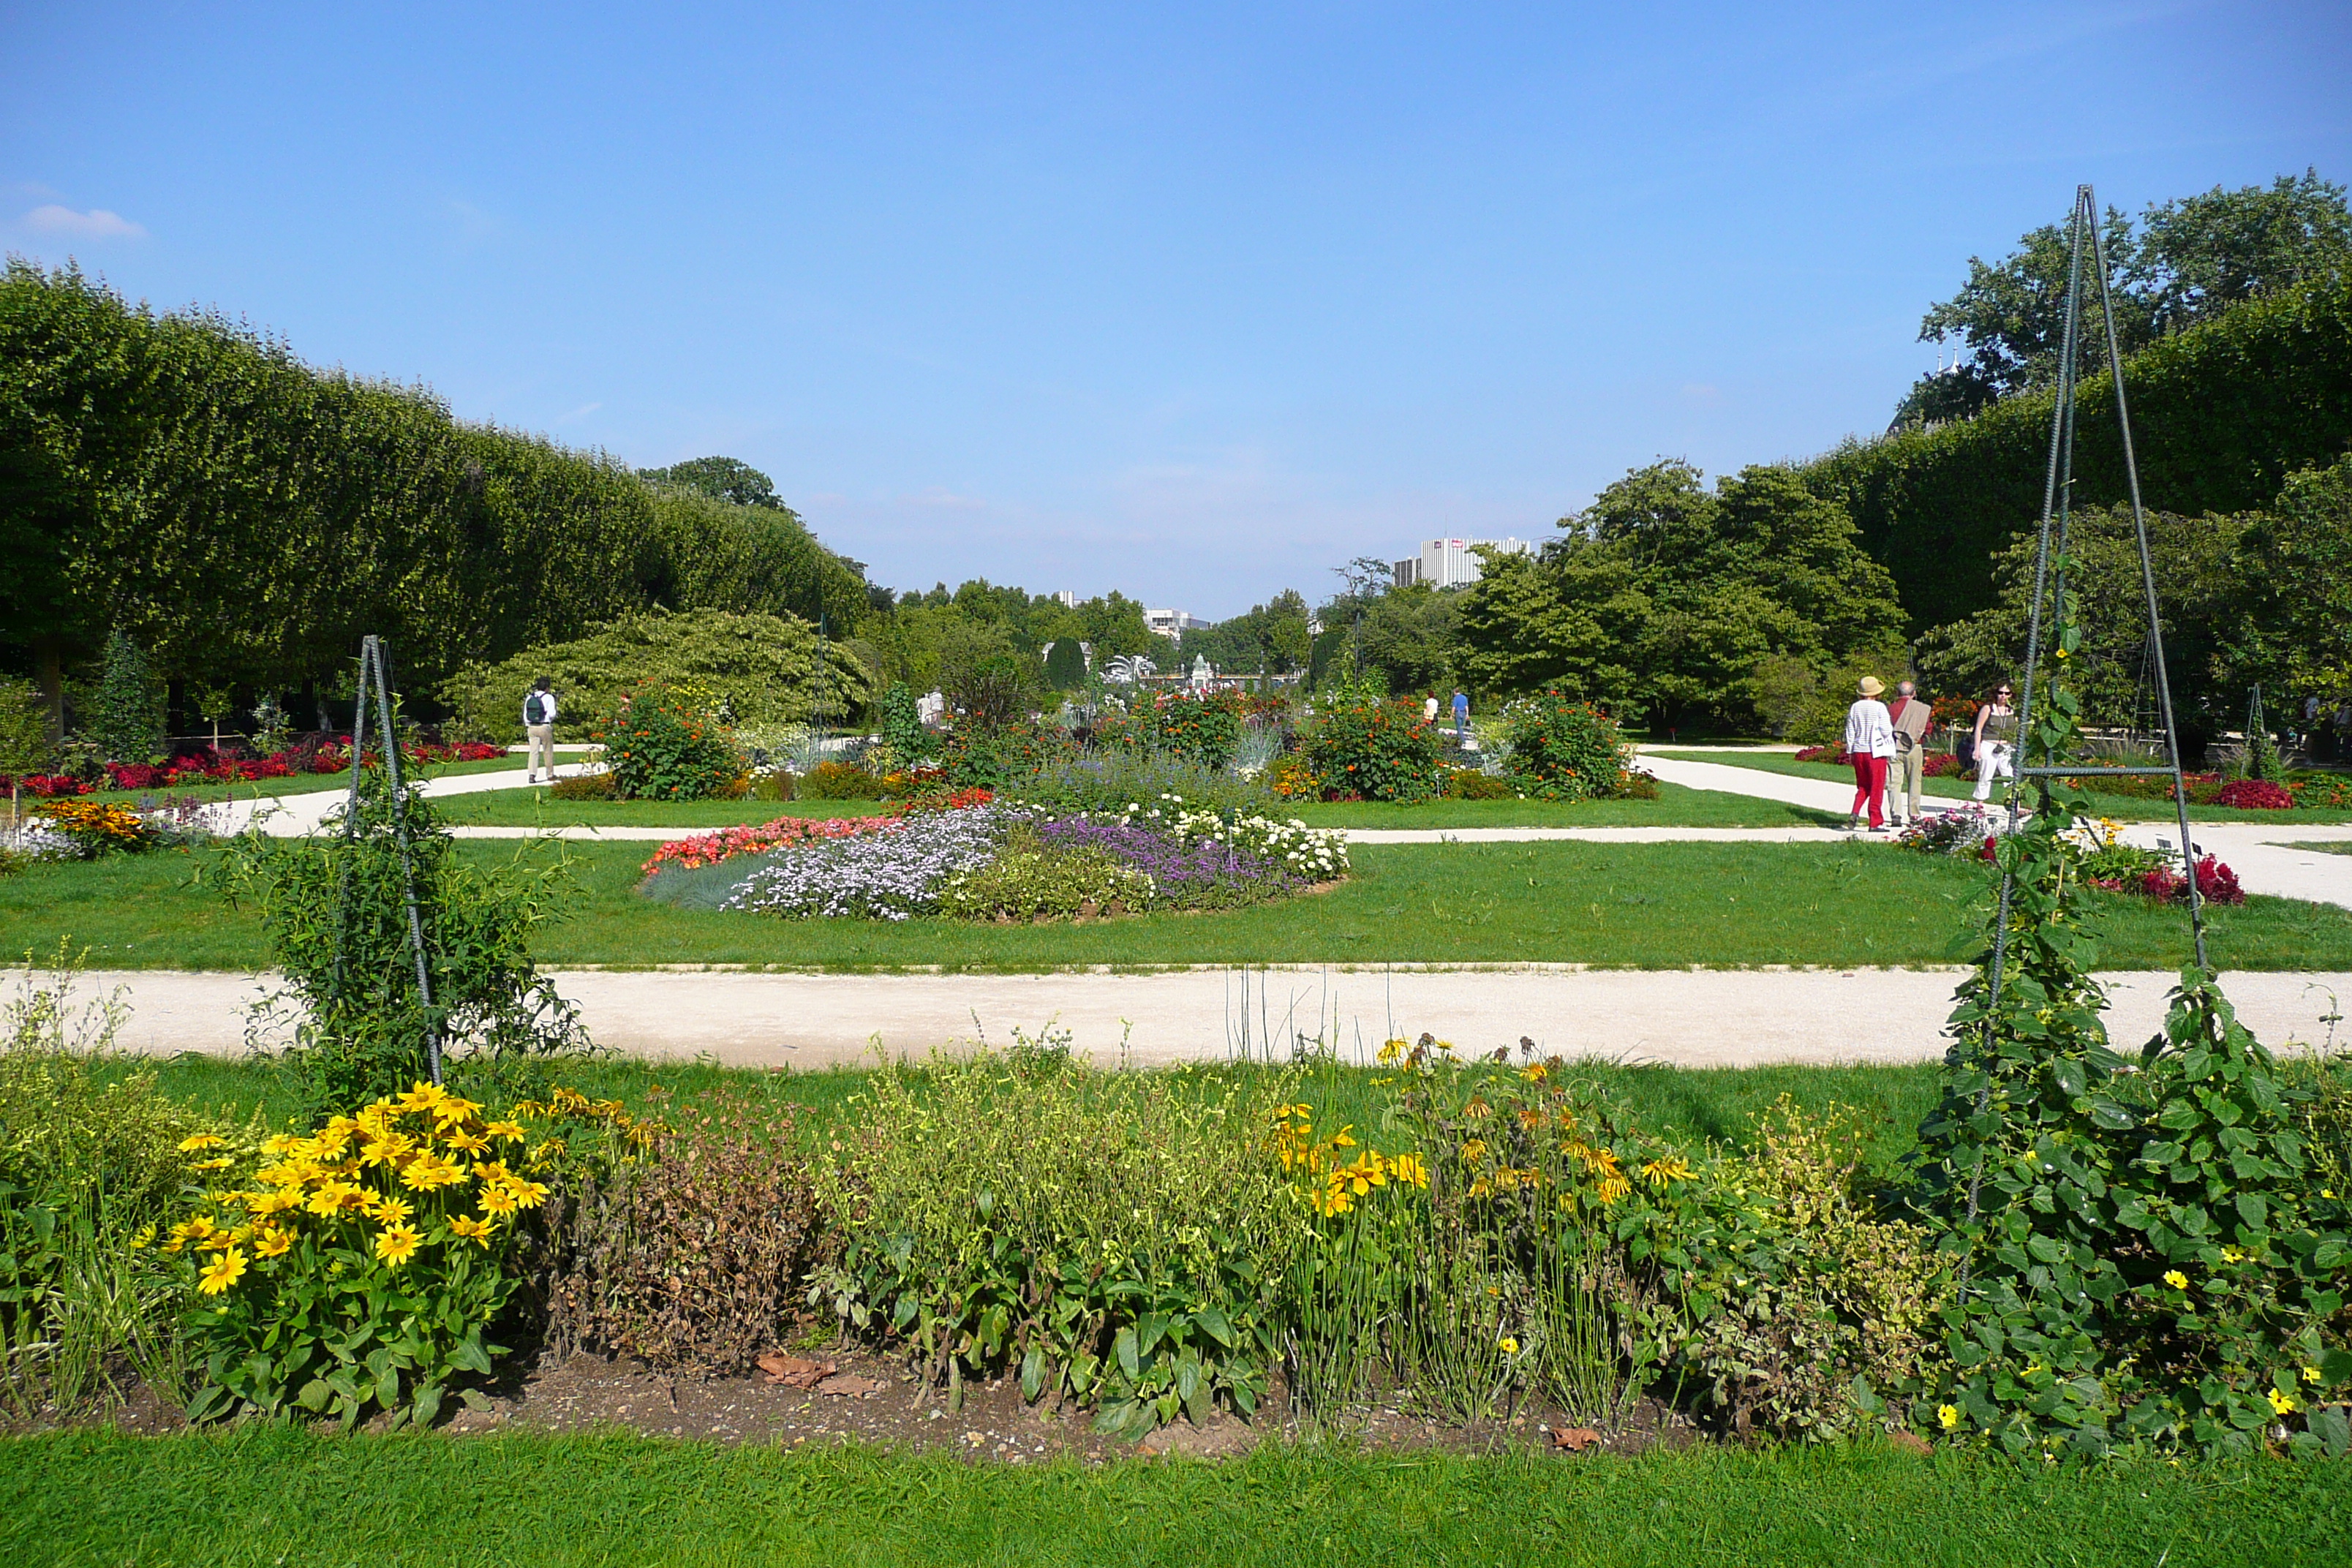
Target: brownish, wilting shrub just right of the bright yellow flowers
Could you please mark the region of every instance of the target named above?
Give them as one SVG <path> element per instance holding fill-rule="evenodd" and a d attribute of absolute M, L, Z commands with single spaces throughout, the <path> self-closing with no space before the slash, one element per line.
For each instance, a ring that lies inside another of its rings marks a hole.
<path fill-rule="evenodd" d="M 539 1288 L 555 1354 L 746 1371 L 793 1335 L 802 1279 L 835 1255 L 790 1110 L 727 1098 L 550 1185 Z"/>

